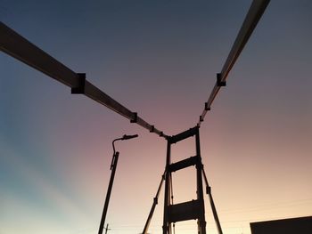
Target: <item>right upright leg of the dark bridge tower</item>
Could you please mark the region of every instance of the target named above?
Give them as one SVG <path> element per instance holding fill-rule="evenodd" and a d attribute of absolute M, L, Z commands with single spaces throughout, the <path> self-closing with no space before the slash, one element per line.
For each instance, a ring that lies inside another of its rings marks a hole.
<path fill-rule="evenodd" d="M 200 143 L 200 131 L 199 128 L 196 132 L 196 156 L 198 157 L 196 164 L 196 177 L 197 177 L 197 199 L 200 202 L 200 217 L 197 221 L 198 234 L 206 234 L 206 221 L 205 221 L 205 206 L 203 201 L 202 190 L 202 177 L 201 177 L 201 143 Z"/>

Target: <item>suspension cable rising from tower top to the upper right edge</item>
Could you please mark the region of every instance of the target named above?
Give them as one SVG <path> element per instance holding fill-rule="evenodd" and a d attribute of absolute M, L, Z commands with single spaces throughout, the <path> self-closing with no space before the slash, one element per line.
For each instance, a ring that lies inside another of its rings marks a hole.
<path fill-rule="evenodd" d="M 209 99 L 205 103 L 205 108 L 203 109 L 200 120 L 197 124 L 198 126 L 201 126 L 201 122 L 206 116 L 208 110 L 211 108 L 211 104 L 215 100 L 220 88 L 226 85 L 226 77 L 228 76 L 228 73 L 233 68 L 235 61 L 242 52 L 245 44 L 248 42 L 252 31 L 254 30 L 254 28 L 256 28 L 269 2 L 270 0 L 253 0 L 252 4 L 250 5 L 250 9 L 245 17 L 245 20 L 242 23 L 242 28 L 236 36 L 232 49 L 227 56 L 221 73 L 218 73 L 216 85 L 213 87 L 212 92 L 209 95 Z"/>

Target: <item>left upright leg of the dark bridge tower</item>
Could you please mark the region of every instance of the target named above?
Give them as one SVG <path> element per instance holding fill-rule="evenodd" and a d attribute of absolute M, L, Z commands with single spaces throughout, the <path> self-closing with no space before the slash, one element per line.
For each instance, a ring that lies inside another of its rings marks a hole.
<path fill-rule="evenodd" d="M 170 183 L 171 183 L 171 173 L 168 170 L 168 167 L 171 162 L 171 143 L 167 141 L 167 159 L 166 159 L 166 170 L 165 170 L 165 201 L 164 201 L 164 219 L 162 226 L 163 234 L 171 234 L 170 222 L 168 219 L 168 206 L 170 205 Z"/>

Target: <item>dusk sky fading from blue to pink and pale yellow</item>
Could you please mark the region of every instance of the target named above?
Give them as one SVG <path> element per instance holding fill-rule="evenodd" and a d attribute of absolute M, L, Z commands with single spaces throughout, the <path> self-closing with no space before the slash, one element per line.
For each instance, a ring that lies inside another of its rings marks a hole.
<path fill-rule="evenodd" d="M 173 135 L 193 127 L 251 1 L 0 0 L 0 19 L 104 93 Z M 201 125 L 201 157 L 224 233 L 312 215 L 312 2 L 272 1 Z M 0 233 L 97 233 L 119 165 L 108 233 L 139 233 L 166 141 L 0 53 Z M 193 156 L 194 139 L 173 146 Z M 195 170 L 173 174 L 175 203 Z M 162 190 L 163 192 L 163 190 Z M 161 233 L 163 194 L 150 232 Z M 217 233 L 205 197 L 207 230 Z M 177 222 L 180 234 L 196 222 Z"/>

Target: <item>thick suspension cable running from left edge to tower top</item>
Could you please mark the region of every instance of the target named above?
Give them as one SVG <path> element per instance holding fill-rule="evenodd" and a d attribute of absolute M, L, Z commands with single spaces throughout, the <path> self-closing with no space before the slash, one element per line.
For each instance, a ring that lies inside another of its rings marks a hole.
<path fill-rule="evenodd" d="M 69 86 L 72 89 L 72 93 L 85 94 L 87 97 L 103 104 L 119 115 L 127 117 L 131 123 L 141 125 L 151 133 L 156 133 L 161 137 L 168 137 L 155 128 L 154 125 L 150 125 L 144 119 L 138 117 L 135 112 L 127 109 L 118 101 L 103 93 L 99 88 L 86 81 L 85 78 L 81 79 L 81 74 L 72 71 L 60 61 L 55 60 L 35 44 L 30 43 L 26 38 L 13 31 L 12 28 L 4 25 L 3 22 L 0 22 L 0 50 L 26 63 L 30 67 L 45 73 L 45 75 L 52 77 L 63 85 Z"/>

